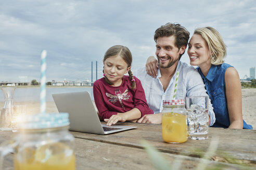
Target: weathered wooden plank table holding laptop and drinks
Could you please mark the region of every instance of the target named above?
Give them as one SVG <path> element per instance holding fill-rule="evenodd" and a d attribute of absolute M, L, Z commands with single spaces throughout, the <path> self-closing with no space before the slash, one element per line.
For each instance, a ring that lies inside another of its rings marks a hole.
<path fill-rule="evenodd" d="M 158 149 L 172 165 L 182 162 L 180 169 L 196 169 L 200 161 L 207 168 L 256 169 L 256 131 L 209 128 L 206 140 L 188 139 L 183 144 L 167 144 L 162 139 L 160 124 L 124 122 L 119 125 L 136 129 L 96 135 L 71 132 L 75 137 L 76 169 L 155 169 L 142 140 Z M 12 138 L 12 132 L 0 132 L 0 142 Z M 216 150 L 204 159 L 210 145 Z M 13 169 L 12 155 L 5 158 L 6 169 Z"/>

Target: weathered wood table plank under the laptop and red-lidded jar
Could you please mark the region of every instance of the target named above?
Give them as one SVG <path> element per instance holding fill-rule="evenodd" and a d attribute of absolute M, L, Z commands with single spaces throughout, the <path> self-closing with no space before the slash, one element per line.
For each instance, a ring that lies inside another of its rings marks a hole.
<path fill-rule="evenodd" d="M 256 131 L 209 128 L 209 139 L 188 139 L 183 144 L 167 144 L 162 139 L 161 125 L 140 123 L 119 123 L 120 125 L 134 125 L 136 129 L 109 134 L 95 135 L 71 132 L 76 138 L 100 141 L 114 145 L 143 148 L 141 140 L 147 140 L 161 152 L 202 157 L 212 140 L 218 140 L 217 150 L 213 160 L 231 163 L 246 163 L 256 166 Z"/>

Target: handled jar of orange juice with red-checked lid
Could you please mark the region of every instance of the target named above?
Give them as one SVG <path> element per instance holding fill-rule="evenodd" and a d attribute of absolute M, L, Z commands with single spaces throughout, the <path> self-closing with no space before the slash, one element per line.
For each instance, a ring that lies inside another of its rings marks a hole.
<path fill-rule="evenodd" d="M 162 136 L 167 143 L 184 143 L 188 135 L 195 133 L 195 118 L 188 116 L 185 100 L 164 100 L 162 110 Z M 189 128 L 188 128 L 189 127 Z"/>

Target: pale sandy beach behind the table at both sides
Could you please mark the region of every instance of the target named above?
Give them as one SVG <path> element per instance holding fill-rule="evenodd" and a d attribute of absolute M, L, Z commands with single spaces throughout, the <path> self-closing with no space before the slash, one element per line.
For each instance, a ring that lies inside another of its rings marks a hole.
<path fill-rule="evenodd" d="M 256 89 L 242 89 L 242 117 L 251 124 L 256 130 Z M 15 105 L 27 105 L 27 113 L 39 113 L 40 102 L 14 102 Z M 2 110 L 4 102 L 0 102 L 0 109 Z M 56 113 L 58 109 L 54 102 L 46 103 L 46 112 Z"/>

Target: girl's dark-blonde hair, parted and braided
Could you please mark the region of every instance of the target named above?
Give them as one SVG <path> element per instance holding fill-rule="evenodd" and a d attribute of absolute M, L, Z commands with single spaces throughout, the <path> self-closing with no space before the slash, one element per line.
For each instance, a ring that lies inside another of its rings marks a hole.
<path fill-rule="evenodd" d="M 125 63 L 128 65 L 128 67 L 132 66 L 132 61 L 133 61 L 133 57 L 132 57 L 132 53 L 129 50 L 129 48 L 125 47 L 125 46 L 120 46 L 120 45 L 116 45 L 116 46 L 112 46 L 110 47 L 105 55 L 104 55 L 104 61 L 108 58 L 110 58 L 111 56 L 121 56 L 121 58 L 125 61 Z M 104 69 L 103 69 L 103 73 L 104 73 Z M 130 77 L 130 81 L 131 81 L 131 89 L 135 89 L 136 88 L 136 82 L 134 81 L 134 77 L 133 77 L 133 73 L 131 71 L 131 69 L 128 72 L 129 77 Z M 108 80 L 108 78 L 106 76 L 104 76 L 105 81 L 112 85 L 112 83 Z"/>

